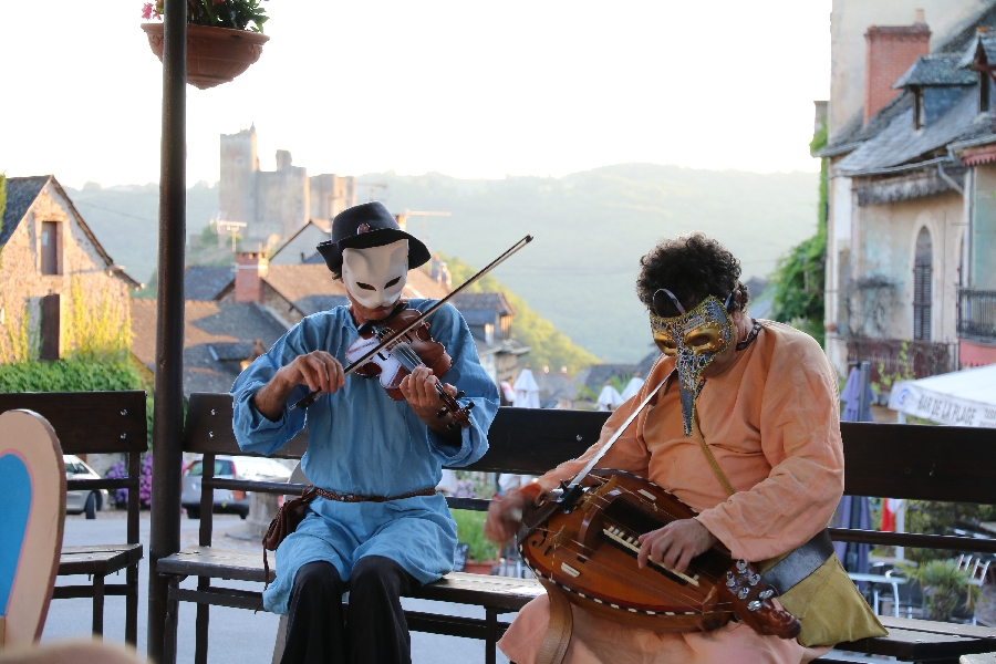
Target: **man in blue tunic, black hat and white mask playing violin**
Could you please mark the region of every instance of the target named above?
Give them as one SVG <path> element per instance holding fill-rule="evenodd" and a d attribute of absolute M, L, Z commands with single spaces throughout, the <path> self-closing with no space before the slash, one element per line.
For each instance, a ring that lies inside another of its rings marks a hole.
<path fill-rule="evenodd" d="M 401 381 L 402 401 L 376 378 L 344 376 L 346 351 L 367 321 L 398 308 L 408 270 L 429 260 L 380 203 L 349 208 L 319 251 L 345 284 L 349 305 L 305 318 L 232 385 L 234 428 L 246 452 L 273 454 L 308 423 L 304 474 L 319 497 L 277 549 L 267 611 L 288 614 L 282 662 L 411 662 L 400 595 L 449 572 L 456 525 L 436 494 L 442 466 L 465 466 L 487 450 L 498 392 L 481 369 L 466 322 L 449 304 L 430 318 L 450 365 L 443 390 L 473 403 L 469 421 L 439 417 L 439 378 L 419 365 Z M 409 300 L 424 311 L 434 301 Z M 293 408 L 319 392 L 307 407 Z M 347 584 L 347 585 L 346 585 Z M 349 626 L 342 594 L 350 591 Z"/>

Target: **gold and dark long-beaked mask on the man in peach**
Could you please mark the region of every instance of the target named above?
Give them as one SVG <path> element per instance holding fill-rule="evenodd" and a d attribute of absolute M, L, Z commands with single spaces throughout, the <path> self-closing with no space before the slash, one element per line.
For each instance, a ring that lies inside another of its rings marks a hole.
<path fill-rule="evenodd" d="M 709 295 L 688 312 L 685 312 L 678 299 L 666 288 L 658 289 L 654 293 L 654 300 L 662 294 L 668 297 L 681 313 L 661 318 L 652 311 L 651 330 L 661 352 L 677 357 L 675 369 L 682 397 L 682 416 L 685 435 L 691 436 L 695 398 L 703 385 L 702 372 L 713 363 L 716 355 L 729 347 L 734 338 L 733 320 L 727 312 L 734 293 L 729 293 L 725 303 L 715 295 Z"/>

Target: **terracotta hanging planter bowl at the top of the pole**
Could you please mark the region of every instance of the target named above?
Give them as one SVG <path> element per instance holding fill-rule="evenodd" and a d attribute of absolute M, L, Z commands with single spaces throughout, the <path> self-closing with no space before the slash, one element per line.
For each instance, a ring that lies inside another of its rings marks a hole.
<path fill-rule="evenodd" d="M 148 45 L 163 62 L 163 23 L 142 23 Z M 187 83 L 207 90 L 228 83 L 259 60 L 266 34 L 210 25 L 187 25 Z"/>

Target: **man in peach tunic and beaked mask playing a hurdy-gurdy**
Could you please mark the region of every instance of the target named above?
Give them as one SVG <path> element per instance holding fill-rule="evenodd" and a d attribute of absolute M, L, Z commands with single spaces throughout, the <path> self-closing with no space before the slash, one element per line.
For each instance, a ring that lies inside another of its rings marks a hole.
<path fill-rule="evenodd" d="M 885 633 L 829 538 L 820 543 L 843 490 L 836 372 L 812 338 L 751 318 L 739 277 L 739 261 L 702 234 L 665 240 L 643 257 L 636 292 L 662 351 L 646 383 L 582 457 L 492 502 L 485 531 L 507 541 L 523 508 L 574 477 L 663 382 L 599 466 L 650 479 L 698 513 L 642 533 L 627 580 L 636 587 L 641 570 L 654 573 L 650 562 L 684 573 L 717 542 L 760 572 L 803 550 L 808 567 L 777 598 L 800 619 L 801 633 L 761 635 L 736 621 L 707 632 L 651 631 L 542 595 L 499 642 L 509 660 L 798 664 L 836 643 Z M 563 627 L 571 619 L 572 632 Z"/>

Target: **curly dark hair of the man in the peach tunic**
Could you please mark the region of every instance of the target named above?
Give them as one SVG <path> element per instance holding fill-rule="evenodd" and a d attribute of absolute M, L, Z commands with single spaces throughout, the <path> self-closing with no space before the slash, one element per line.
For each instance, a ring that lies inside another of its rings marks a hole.
<path fill-rule="evenodd" d="M 685 311 L 696 307 L 709 295 L 720 301 L 736 289 L 728 311 L 745 310 L 750 299 L 747 287 L 740 282 L 740 261 L 716 240 L 701 232 L 664 240 L 640 259 L 636 294 L 650 311 L 660 317 L 674 317 L 681 312 L 664 293 L 654 302 L 654 293 L 666 288 L 677 297 Z"/>

